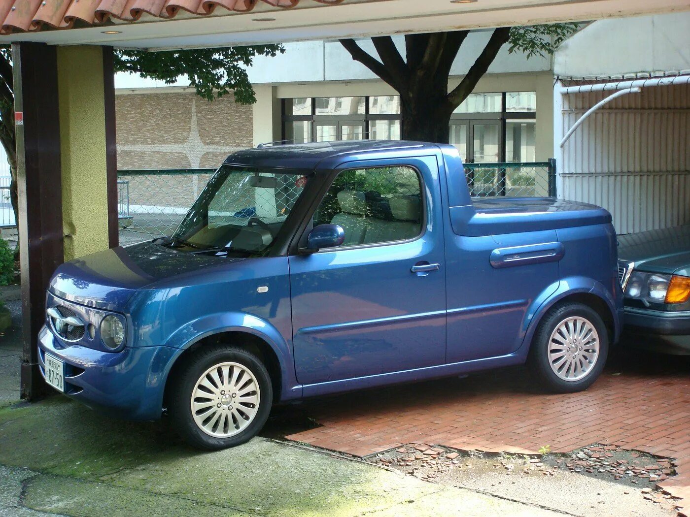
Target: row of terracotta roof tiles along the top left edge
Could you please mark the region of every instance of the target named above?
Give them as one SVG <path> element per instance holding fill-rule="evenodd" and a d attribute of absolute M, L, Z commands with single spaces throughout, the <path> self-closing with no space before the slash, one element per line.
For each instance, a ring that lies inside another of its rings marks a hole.
<path fill-rule="evenodd" d="M 137 21 L 141 14 L 172 18 L 184 10 L 205 16 L 216 7 L 229 11 L 250 11 L 259 1 L 273 7 L 290 8 L 299 0 L 0 0 L 0 34 L 35 31 L 42 28 L 71 28 L 75 21 L 97 24 L 115 18 Z M 343 0 L 313 0 L 336 4 Z"/>

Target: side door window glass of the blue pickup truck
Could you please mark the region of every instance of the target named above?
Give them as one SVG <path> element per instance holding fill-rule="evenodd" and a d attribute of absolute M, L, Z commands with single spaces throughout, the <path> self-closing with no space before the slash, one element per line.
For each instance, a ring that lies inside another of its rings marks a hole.
<path fill-rule="evenodd" d="M 422 185 L 411 167 L 346 170 L 314 215 L 345 230 L 341 247 L 408 241 L 422 233 Z"/>

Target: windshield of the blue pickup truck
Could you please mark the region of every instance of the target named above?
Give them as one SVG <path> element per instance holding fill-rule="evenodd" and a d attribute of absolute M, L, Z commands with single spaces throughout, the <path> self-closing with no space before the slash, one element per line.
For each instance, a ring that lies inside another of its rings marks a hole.
<path fill-rule="evenodd" d="M 269 254 L 306 183 L 302 171 L 222 165 L 168 245 L 190 253 Z"/>

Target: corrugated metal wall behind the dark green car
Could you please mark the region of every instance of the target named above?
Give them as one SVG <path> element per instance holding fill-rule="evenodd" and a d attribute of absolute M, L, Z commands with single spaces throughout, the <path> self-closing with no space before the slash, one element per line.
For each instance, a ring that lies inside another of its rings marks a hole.
<path fill-rule="evenodd" d="M 563 130 L 611 92 L 565 95 Z M 607 208 L 618 233 L 690 223 L 690 85 L 614 99 L 564 147 L 565 199 Z"/>

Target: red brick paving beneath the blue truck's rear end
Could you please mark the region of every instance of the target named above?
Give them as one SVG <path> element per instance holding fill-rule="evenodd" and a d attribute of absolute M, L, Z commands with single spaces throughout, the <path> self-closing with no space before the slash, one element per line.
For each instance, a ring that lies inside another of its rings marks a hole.
<path fill-rule="evenodd" d="M 586 392 L 540 394 L 503 369 L 306 401 L 322 427 L 287 438 L 355 456 L 404 443 L 486 452 L 570 452 L 592 443 L 674 458 L 659 483 L 690 508 L 690 358 L 621 350 Z"/>

